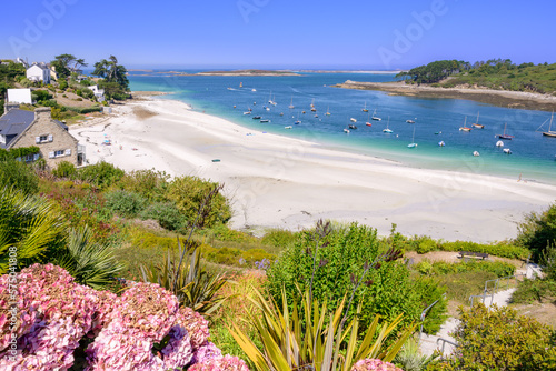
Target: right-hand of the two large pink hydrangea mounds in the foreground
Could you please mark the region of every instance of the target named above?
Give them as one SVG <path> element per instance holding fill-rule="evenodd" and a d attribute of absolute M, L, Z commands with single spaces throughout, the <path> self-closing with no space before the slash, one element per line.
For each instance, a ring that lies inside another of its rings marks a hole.
<path fill-rule="evenodd" d="M 87 349 L 87 370 L 181 369 L 209 335 L 200 314 L 179 308 L 173 294 L 153 283 L 132 282 L 116 301 L 110 320 Z M 155 344 L 165 338 L 168 343 L 155 353 Z"/>

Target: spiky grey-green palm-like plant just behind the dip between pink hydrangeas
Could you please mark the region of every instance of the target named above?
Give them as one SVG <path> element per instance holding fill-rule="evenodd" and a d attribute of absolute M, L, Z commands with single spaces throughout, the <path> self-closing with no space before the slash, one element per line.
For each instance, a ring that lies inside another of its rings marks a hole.
<path fill-rule="evenodd" d="M 70 230 L 68 245 L 54 263 L 66 269 L 76 282 L 97 290 L 109 285 L 123 270 L 112 254 L 112 245 L 92 241 L 88 227 Z"/>

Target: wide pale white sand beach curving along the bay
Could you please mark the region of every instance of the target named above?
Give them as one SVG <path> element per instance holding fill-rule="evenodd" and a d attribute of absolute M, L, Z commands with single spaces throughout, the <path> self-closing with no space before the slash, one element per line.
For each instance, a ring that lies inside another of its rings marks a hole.
<path fill-rule="evenodd" d="M 157 114 L 140 119 L 133 110 L 141 108 Z M 224 182 L 234 228 L 297 230 L 322 218 L 358 221 L 380 234 L 396 223 L 407 235 L 486 242 L 514 238 L 525 213 L 546 209 L 556 197 L 549 184 L 414 169 L 262 133 L 178 101 L 136 101 L 113 111 L 70 130 L 87 146 L 90 163 Z M 105 138 L 112 146 L 100 146 Z"/>

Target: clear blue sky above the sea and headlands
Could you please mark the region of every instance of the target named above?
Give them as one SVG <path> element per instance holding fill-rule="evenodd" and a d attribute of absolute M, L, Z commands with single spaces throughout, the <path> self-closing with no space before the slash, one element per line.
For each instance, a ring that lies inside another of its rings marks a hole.
<path fill-rule="evenodd" d="M 128 68 L 405 69 L 439 59 L 556 62 L 556 1 L 4 1 L 0 58 Z"/>

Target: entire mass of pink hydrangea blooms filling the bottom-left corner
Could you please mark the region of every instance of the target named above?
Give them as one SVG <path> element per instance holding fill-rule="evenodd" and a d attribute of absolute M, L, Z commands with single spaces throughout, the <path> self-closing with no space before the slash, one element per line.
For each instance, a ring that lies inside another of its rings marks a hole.
<path fill-rule="evenodd" d="M 248 371 L 244 361 L 221 355 L 208 342 L 208 321 L 179 308 L 169 291 L 130 282 L 121 297 L 73 282 L 59 267 L 34 264 L 18 274 L 17 355 L 8 318 L 8 275 L 0 277 L 0 370 L 67 370 L 85 337 L 87 371 Z"/>

